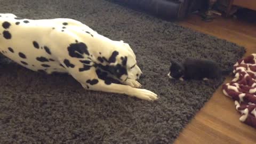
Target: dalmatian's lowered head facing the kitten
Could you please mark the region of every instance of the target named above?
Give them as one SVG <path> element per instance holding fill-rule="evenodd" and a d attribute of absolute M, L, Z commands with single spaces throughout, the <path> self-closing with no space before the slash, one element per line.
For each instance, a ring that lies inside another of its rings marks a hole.
<path fill-rule="evenodd" d="M 130 45 L 123 41 L 115 41 L 115 51 L 109 58 L 109 71 L 121 81 L 127 78 L 139 79 L 142 71 L 137 65 L 136 56 Z"/>

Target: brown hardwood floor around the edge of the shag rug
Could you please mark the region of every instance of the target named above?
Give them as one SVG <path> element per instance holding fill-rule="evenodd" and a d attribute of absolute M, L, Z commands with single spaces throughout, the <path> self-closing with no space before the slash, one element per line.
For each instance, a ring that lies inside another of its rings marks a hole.
<path fill-rule="evenodd" d="M 203 22 L 196 15 L 179 24 L 245 46 L 244 57 L 256 53 L 255 24 L 221 17 Z M 231 79 L 228 76 L 224 83 Z M 256 129 L 239 122 L 239 117 L 234 101 L 222 93 L 220 86 L 174 143 L 256 143 Z"/>

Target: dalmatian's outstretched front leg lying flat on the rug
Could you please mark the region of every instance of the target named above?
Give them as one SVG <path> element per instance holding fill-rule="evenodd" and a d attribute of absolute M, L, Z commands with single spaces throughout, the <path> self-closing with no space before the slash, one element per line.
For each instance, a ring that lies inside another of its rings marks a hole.
<path fill-rule="evenodd" d="M 126 94 L 143 100 L 158 99 L 157 94 L 145 89 L 137 89 L 129 85 L 115 83 L 106 84 L 105 81 L 98 78 L 95 72 L 96 69 L 93 66 L 89 70 L 85 71 L 78 71 L 76 68 L 67 69 L 69 73 L 87 90 Z"/>

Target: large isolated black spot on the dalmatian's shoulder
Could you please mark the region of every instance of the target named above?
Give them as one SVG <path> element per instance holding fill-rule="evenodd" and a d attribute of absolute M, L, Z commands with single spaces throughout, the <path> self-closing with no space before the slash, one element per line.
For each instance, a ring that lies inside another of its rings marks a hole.
<path fill-rule="evenodd" d="M 73 43 L 68 47 L 68 53 L 73 58 L 84 58 L 83 54 L 89 54 L 87 46 L 84 43 Z"/>

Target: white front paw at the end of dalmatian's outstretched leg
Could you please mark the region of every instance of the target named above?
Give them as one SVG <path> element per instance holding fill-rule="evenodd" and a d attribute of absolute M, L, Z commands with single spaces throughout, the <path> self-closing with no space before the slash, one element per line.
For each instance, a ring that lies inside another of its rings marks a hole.
<path fill-rule="evenodd" d="M 158 99 L 157 94 L 145 89 L 136 89 L 134 96 L 139 99 L 149 101 L 154 101 Z"/>

